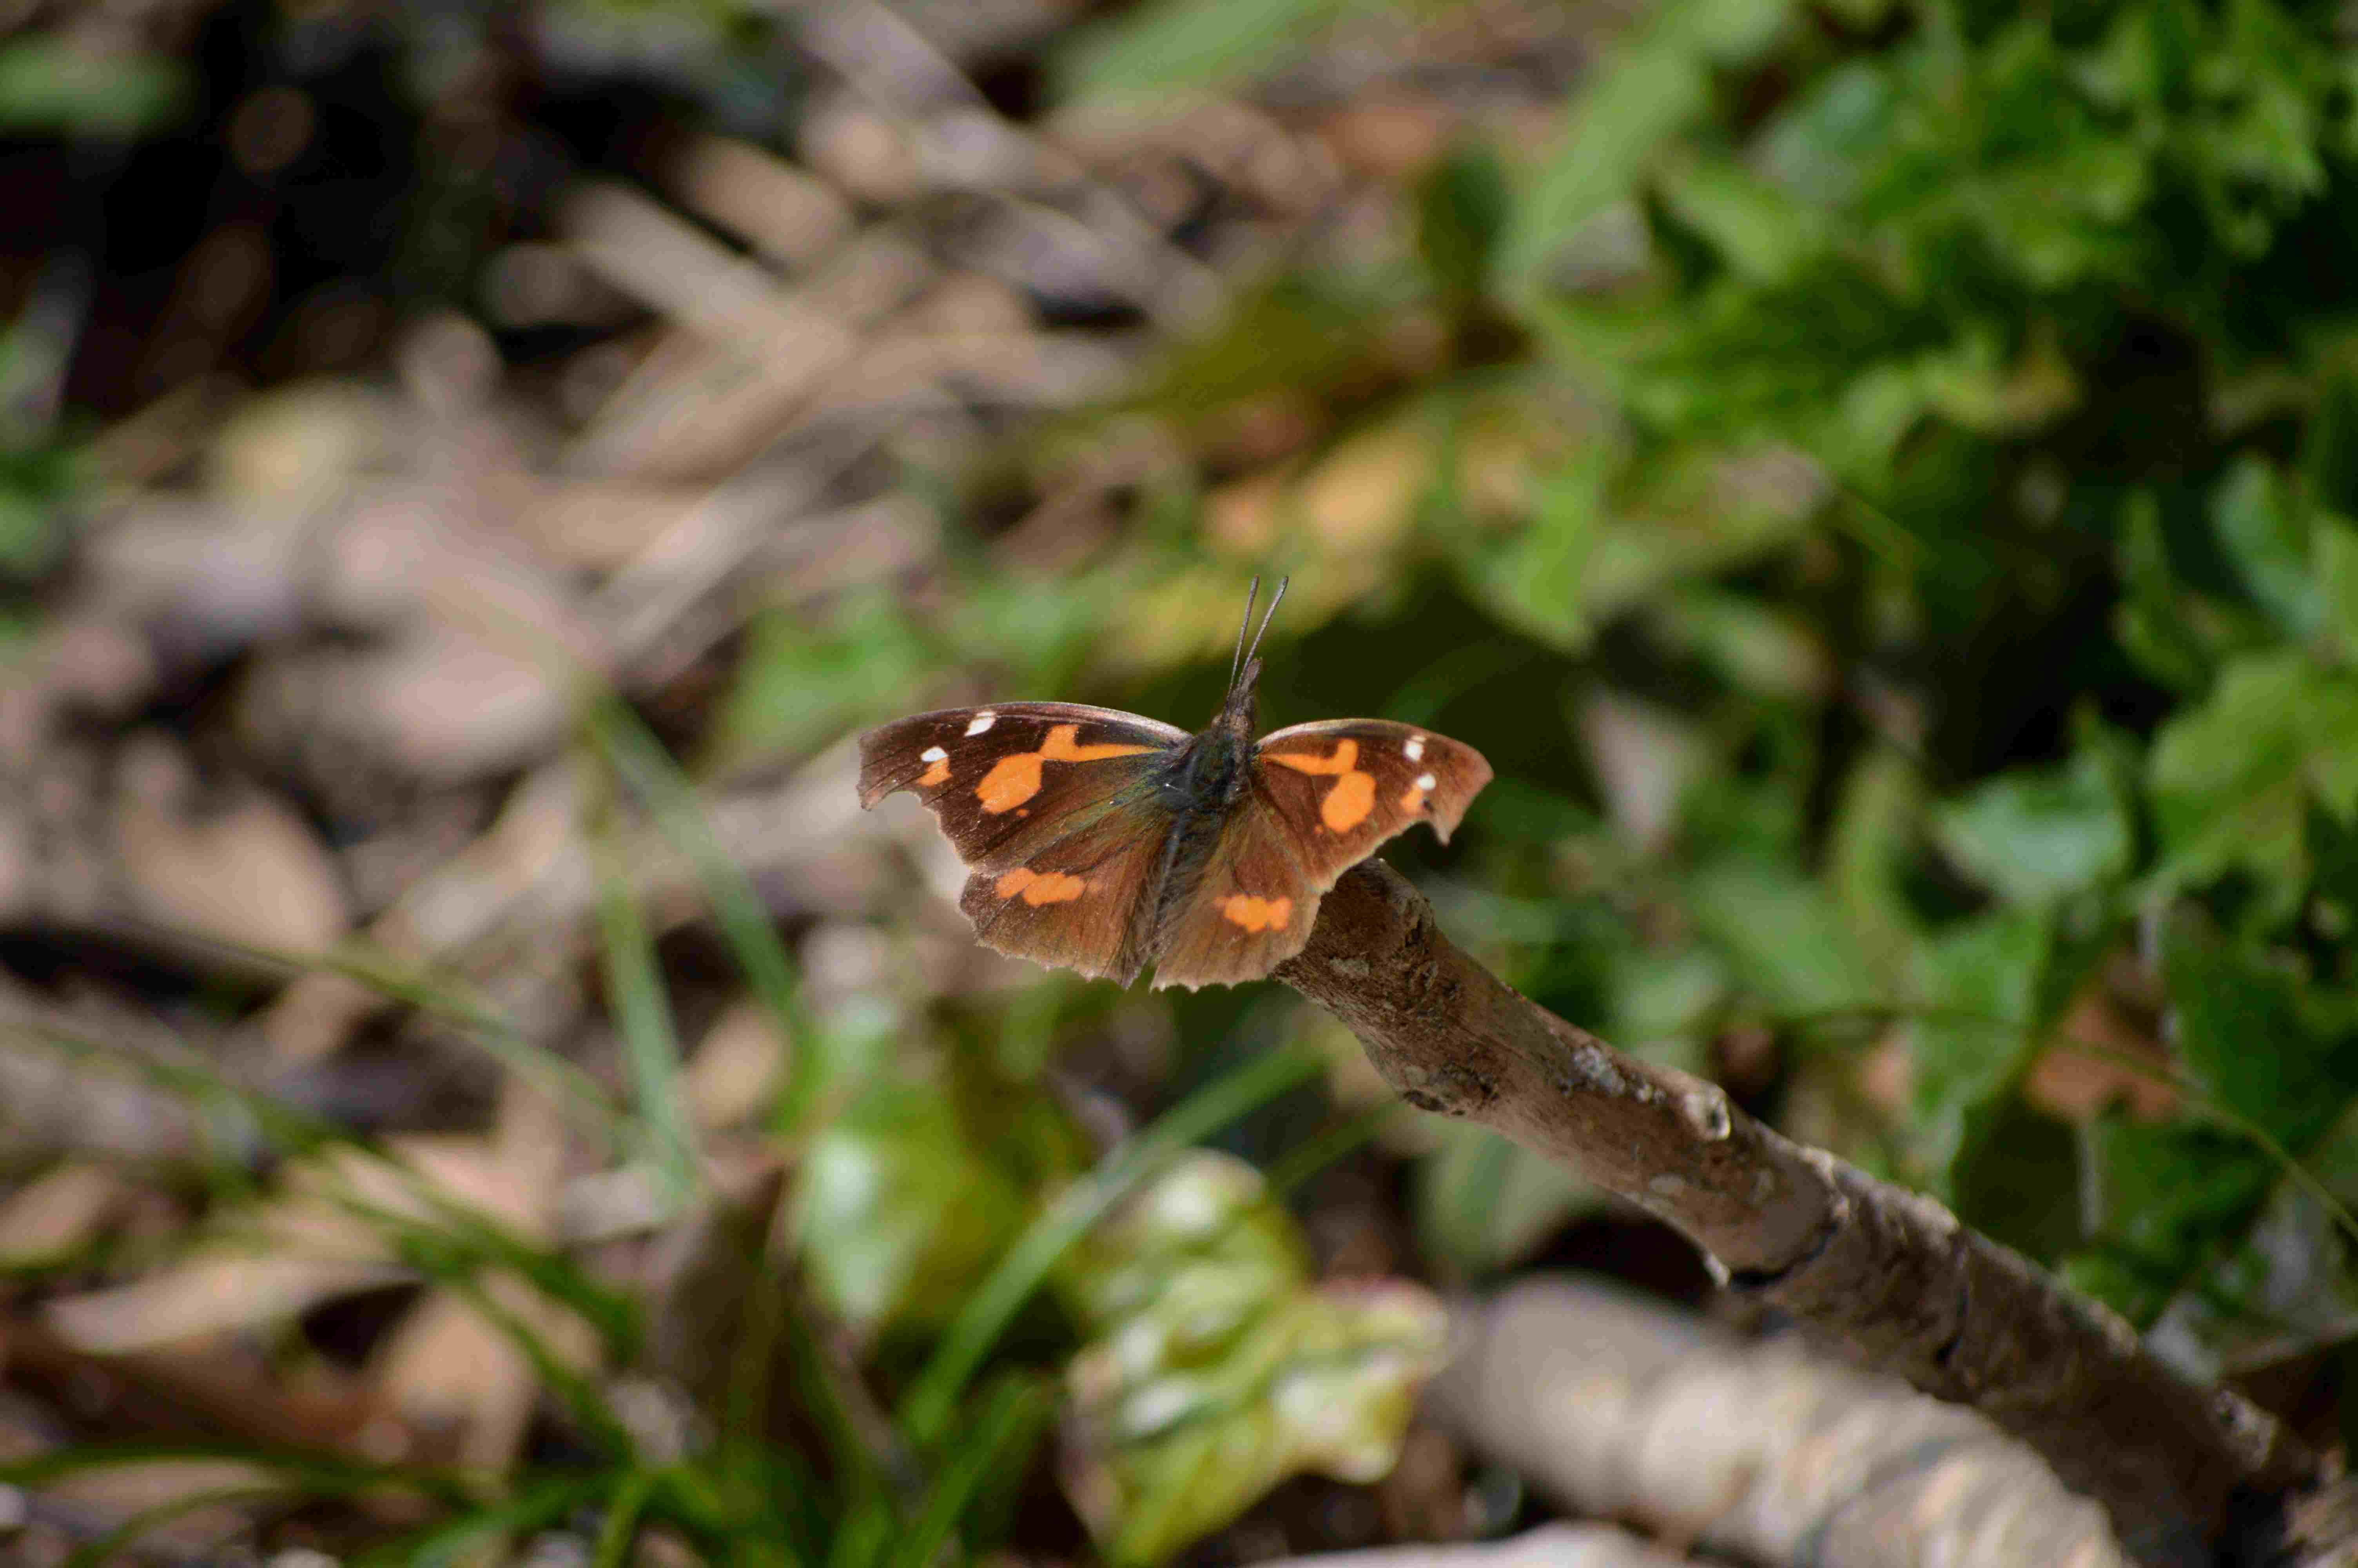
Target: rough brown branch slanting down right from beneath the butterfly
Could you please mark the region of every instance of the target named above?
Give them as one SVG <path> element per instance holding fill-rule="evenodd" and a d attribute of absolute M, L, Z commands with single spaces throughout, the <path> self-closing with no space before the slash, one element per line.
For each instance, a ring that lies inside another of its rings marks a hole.
<path fill-rule="evenodd" d="M 2141 1563 L 2212 1563 L 2254 1507 L 2318 1481 L 2273 1417 L 2181 1379 L 2115 1313 L 1938 1203 L 1526 1000 L 1382 863 L 1335 884 L 1276 979 L 1342 1019 L 1408 1103 L 1495 1127 L 1636 1203 L 1728 1290 L 1988 1415 L 2101 1502 Z"/>

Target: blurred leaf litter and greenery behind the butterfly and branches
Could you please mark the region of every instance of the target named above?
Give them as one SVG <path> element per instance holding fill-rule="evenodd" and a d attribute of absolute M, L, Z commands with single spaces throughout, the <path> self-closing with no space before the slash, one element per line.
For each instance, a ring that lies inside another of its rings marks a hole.
<path fill-rule="evenodd" d="M 0 1556 L 1582 1511 L 1417 1391 L 1542 1271 L 1726 1318 L 1684 1240 L 858 811 L 903 712 L 1200 726 L 1269 573 L 1271 726 L 1497 769 L 1387 854 L 1460 946 L 2337 1445 L 2353 85 L 2294 0 L 0 0 Z"/>

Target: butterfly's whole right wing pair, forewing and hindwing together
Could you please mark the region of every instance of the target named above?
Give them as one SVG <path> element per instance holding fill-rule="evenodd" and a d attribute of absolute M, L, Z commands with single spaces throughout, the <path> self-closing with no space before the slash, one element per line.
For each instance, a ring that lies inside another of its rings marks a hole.
<path fill-rule="evenodd" d="M 1266 976 L 1309 943 L 1342 872 L 1415 823 L 1448 839 L 1486 783 L 1481 752 L 1412 724 L 1332 719 L 1262 736 L 1250 795 L 1165 910 L 1155 986 Z"/>

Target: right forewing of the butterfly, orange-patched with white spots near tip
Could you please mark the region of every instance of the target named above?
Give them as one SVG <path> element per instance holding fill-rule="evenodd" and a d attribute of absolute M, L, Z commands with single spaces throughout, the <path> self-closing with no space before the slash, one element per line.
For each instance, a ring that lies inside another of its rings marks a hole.
<path fill-rule="evenodd" d="M 1325 719 L 1262 736 L 1257 788 L 1285 818 L 1316 891 L 1415 823 L 1448 842 L 1490 764 L 1471 745 L 1391 719 Z"/>

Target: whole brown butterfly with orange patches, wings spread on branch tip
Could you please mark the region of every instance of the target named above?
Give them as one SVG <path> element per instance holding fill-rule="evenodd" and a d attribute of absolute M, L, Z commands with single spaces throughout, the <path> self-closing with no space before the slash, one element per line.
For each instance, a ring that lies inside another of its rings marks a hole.
<path fill-rule="evenodd" d="M 913 790 L 971 868 L 957 908 L 986 948 L 1122 986 L 1257 981 L 1311 936 L 1318 901 L 1377 844 L 1448 842 L 1490 783 L 1481 752 L 1389 719 L 1252 738 L 1259 646 L 1285 582 L 1198 733 L 1111 707 L 993 703 L 861 736 L 861 806 Z"/>

